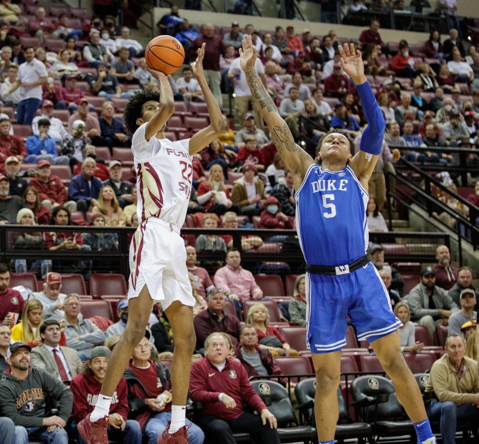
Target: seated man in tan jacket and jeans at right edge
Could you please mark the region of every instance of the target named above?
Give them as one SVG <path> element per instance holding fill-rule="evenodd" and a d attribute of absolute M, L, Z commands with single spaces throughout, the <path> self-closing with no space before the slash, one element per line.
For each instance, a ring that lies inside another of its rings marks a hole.
<path fill-rule="evenodd" d="M 465 352 L 462 335 L 449 336 L 446 354 L 433 364 L 426 384 L 426 392 L 436 395 L 427 406 L 428 418 L 440 423 L 445 443 L 456 442 L 458 420 L 478 420 L 478 365 L 474 359 L 464 356 Z"/>

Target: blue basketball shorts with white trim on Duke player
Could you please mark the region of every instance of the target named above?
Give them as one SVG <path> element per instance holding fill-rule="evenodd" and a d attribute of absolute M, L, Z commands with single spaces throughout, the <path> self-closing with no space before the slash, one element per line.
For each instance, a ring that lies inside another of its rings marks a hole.
<path fill-rule="evenodd" d="M 306 274 L 306 342 L 312 353 L 329 353 L 346 345 L 346 317 L 358 340 L 373 342 L 402 326 L 388 291 L 373 264 L 344 275 Z"/>

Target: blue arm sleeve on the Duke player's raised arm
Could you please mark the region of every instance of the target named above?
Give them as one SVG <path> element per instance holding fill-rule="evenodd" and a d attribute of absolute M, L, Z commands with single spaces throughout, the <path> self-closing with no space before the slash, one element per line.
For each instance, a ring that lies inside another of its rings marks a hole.
<path fill-rule="evenodd" d="M 379 155 L 381 154 L 386 121 L 384 120 L 383 113 L 374 97 L 369 82 L 357 85 L 356 89 L 358 90 L 359 98 L 361 99 L 363 110 L 366 114 L 366 120 L 368 121 L 368 126 L 361 136 L 359 149 L 369 154 Z"/>

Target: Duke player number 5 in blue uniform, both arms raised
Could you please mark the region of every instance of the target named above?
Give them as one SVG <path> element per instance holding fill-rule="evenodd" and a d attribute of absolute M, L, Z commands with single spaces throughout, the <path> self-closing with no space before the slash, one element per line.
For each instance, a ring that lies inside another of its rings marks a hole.
<path fill-rule="evenodd" d="M 364 75 L 361 52 L 338 46 L 341 65 L 356 85 L 368 126 L 360 150 L 347 133 L 331 130 L 319 141 L 317 162 L 294 143 L 274 102 L 254 70 L 257 51 L 246 35 L 240 65 L 255 106 L 264 118 L 278 153 L 294 176 L 296 227 L 306 260 L 306 340 L 316 372 L 314 411 L 320 444 L 333 444 L 338 404 L 341 348 L 346 317 L 359 339 L 371 343 L 391 377 L 399 402 L 414 423 L 419 443 L 433 444 L 421 393 L 401 353 L 388 293 L 366 254 L 368 180 L 381 154 L 385 121 Z"/>

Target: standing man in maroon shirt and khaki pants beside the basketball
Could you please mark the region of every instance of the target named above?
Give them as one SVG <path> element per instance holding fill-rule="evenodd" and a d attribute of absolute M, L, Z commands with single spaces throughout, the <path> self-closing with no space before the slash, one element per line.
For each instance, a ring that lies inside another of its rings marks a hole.
<path fill-rule="evenodd" d="M 206 81 L 215 96 L 220 108 L 223 106 L 223 97 L 221 95 L 221 69 L 220 55 L 225 52 L 223 40 L 213 34 L 214 27 L 211 23 L 203 25 L 203 35 L 195 39 L 191 45 L 192 51 L 197 51 L 203 43 L 206 43 L 205 58 L 203 59 L 203 71 Z"/>

